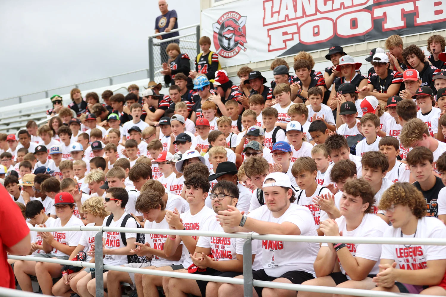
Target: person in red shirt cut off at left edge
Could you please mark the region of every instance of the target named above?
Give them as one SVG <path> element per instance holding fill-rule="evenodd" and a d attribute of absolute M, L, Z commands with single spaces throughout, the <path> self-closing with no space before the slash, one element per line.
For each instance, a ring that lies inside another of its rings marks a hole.
<path fill-rule="evenodd" d="M 25 256 L 31 250 L 31 237 L 20 208 L 0 187 L 0 287 L 15 289 L 14 273 L 8 264 L 6 252 Z"/>

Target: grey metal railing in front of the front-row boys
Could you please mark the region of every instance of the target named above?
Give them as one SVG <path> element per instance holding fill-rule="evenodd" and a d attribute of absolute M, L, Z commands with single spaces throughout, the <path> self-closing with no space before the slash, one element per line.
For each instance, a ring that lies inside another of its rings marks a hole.
<path fill-rule="evenodd" d="M 145 233 L 145 234 L 164 234 L 164 235 L 188 235 L 188 236 L 220 236 L 220 237 L 231 237 L 231 238 L 245 238 L 246 241 L 243 246 L 243 254 L 251 255 L 251 240 L 281 240 L 281 241 L 293 241 L 293 242 L 328 242 L 337 243 L 339 242 L 338 236 L 292 236 L 292 235 L 274 235 L 265 234 L 260 235 L 258 233 L 225 233 L 225 232 L 206 232 L 206 231 L 194 231 L 194 230 L 159 230 L 159 229 L 145 229 L 145 228 L 116 228 L 116 227 L 57 227 L 57 228 L 30 228 L 31 231 L 39 232 L 52 232 L 52 231 L 98 231 L 95 236 L 95 242 L 102 241 L 102 232 L 112 231 L 112 232 L 131 232 L 131 233 Z M 343 237 L 343 243 L 356 243 L 356 244 L 423 244 L 423 245 L 446 245 L 446 238 L 383 238 L 383 237 Z M 352 296 L 363 296 L 363 297 L 417 297 L 417 294 L 406 294 L 406 293 L 392 293 L 392 292 L 378 292 L 363 289 L 345 289 L 345 288 L 334 288 L 334 287 L 322 287 L 322 286 L 311 286 L 311 285 L 293 285 L 270 281 L 253 281 L 252 280 L 252 260 L 251 257 L 243 258 L 243 279 L 231 278 L 231 277 L 215 277 L 206 276 L 198 274 L 187 274 L 187 273 L 176 273 L 172 271 L 160 271 L 153 269 L 137 269 L 128 268 L 121 266 L 112 266 L 103 264 L 103 254 L 102 249 L 95 250 L 95 263 L 77 262 L 70 260 L 58 260 L 58 259 L 47 259 L 47 258 L 36 258 L 30 256 L 12 256 L 8 255 L 8 259 L 15 260 L 28 260 L 28 261 L 39 261 L 39 262 L 49 262 L 57 264 L 70 264 L 79 267 L 91 267 L 95 268 L 96 271 L 96 297 L 103 297 L 103 269 L 106 270 L 116 270 L 131 273 L 141 273 L 150 275 L 159 275 L 162 277 L 179 277 L 187 278 L 201 281 L 213 281 L 222 282 L 235 285 L 243 285 L 244 287 L 244 297 L 252 297 L 252 286 L 265 287 L 265 288 L 276 288 L 276 289 L 287 289 L 295 291 L 306 291 L 314 293 L 329 293 L 329 294 L 340 294 L 340 295 L 352 295 Z M 14 296 L 16 294 L 7 294 L 9 291 L 0 290 L 0 297 L 2 296 Z M 21 294 L 20 296 L 32 296 Z M 40 295 L 41 296 L 41 295 Z M 429 297 L 434 297 L 427 295 Z"/>

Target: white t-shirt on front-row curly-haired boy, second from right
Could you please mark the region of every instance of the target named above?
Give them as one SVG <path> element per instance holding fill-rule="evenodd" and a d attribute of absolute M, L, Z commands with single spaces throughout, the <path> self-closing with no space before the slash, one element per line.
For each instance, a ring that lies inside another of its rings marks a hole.
<path fill-rule="evenodd" d="M 342 232 L 342 236 L 349 237 L 382 237 L 384 231 L 388 228 L 388 224 L 383 219 L 371 213 L 364 214 L 361 224 L 355 230 L 347 231 L 347 222 L 344 216 L 337 218 L 336 223 L 338 224 L 339 232 Z M 322 243 L 322 246 L 328 246 L 328 244 Z M 380 244 L 347 244 L 347 248 L 355 258 L 376 261 L 375 266 L 373 266 L 369 274 L 378 274 L 380 272 L 378 266 L 381 255 Z M 341 272 L 346 274 L 342 264 L 340 266 Z M 348 274 L 346 274 L 346 277 L 351 280 Z"/>

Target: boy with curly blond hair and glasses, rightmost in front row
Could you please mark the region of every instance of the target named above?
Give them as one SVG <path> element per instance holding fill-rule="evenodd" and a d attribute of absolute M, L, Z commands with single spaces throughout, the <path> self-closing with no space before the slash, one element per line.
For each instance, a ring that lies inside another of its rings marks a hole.
<path fill-rule="evenodd" d="M 409 183 L 392 184 L 381 197 L 379 208 L 392 223 L 383 237 L 446 237 L 445 225 L 427 217 L 423 195 Z M 383 244 L 373 290 L 444 296 L 445 269 L 446 249 L 440 245 Z"/>

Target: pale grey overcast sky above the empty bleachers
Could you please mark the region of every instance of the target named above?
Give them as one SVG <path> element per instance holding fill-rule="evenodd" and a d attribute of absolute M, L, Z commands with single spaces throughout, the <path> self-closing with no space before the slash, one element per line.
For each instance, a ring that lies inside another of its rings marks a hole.
<path fill-rule="evenodd" d="M 0 98 L 147 68 L 157 3 L 0 0 Z M 180 27 L 200 22 L 199 0 L 168 3 Z"/>

